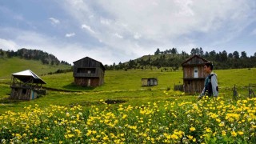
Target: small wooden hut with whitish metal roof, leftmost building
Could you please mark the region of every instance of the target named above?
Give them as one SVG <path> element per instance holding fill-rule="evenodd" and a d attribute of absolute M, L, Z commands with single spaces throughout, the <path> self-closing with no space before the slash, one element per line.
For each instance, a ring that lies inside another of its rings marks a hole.
<path fill-rule="evenodd" d="M 46 94 L 46 90 L 42 90 L 42 84 L 46 82 L 33 71 L 24 70 L 11 75 L 10 99 L 32 100 Z"/>

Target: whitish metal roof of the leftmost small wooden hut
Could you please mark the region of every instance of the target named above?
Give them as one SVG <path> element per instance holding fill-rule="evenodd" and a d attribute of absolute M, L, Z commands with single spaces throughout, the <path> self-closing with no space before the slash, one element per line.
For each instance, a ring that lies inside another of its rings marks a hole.
<path fill-rule="evenodd" d="M 38 77 L 37 74 L 34 74 L 31 70 L 24 70 L 18 73 L 11 74 L 14 78 L 18 78 L 22 82 L 29 82 L 33 80 L 33 83 L 46 84 L 41 78 Z"/>

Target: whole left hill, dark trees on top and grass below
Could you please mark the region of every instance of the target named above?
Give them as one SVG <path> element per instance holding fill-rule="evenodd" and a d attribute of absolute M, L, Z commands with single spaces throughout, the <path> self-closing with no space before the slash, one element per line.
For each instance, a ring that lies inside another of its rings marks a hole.
<path fill-rule="evenodd" d="M 14 52 L 0 49 L 0 79 L 10 78 L 10 74 L 22 70 L 44 75 L 72 71 L 72 66 L 64 61 L 59 62 L 53 54 L 42 50 L 21 49 Z"/>

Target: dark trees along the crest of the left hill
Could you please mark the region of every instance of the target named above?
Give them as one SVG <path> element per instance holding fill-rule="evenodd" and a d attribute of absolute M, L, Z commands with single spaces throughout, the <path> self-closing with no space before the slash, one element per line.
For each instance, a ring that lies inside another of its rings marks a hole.
<path fill-rule="evenodd" d="M 70 65 L 68 62 L 65 61 L 59 61 L 58 58 L 56 58 L 53 54 L 48 54 L 42 50 L 28 50 L 26 48 L 22 48 L 20 50 L 14 51 L 14 50 L 7 50 L 4 51 L 0 49 L 0 58 L 12 58 L 12 57 L 19 57 L 19 58 L 25 58 L 25 59 L 34 59 L 39 60 L 42 62 L 42 64 L 46 65 L 58 65 L 59 63 Z"/>

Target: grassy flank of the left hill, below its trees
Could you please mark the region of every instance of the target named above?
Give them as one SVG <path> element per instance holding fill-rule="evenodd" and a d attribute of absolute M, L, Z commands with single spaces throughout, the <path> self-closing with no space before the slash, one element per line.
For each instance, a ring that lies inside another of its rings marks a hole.
<path fill-rule="evenodd" d="M 41 61 L 26 60 L 22 58 L 0 58 L 0 79 L 10 78 L 10 74 L 22 71 L 32 70 L 38 76 L 42 74 L 48 74 L 49 72 L 55 72 L 58 69 L 66 70 L 70 66 L 59 64 L 54 65 L 42 65 Z"/>

